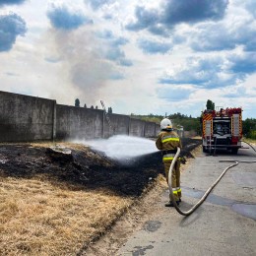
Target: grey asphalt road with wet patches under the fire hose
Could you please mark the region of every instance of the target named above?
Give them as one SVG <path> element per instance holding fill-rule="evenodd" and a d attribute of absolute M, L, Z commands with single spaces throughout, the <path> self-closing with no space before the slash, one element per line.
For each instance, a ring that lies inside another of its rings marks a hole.
<path fill-rule="evenodd" d="M 252 149 L 239 150 L 237 156 L 218 152 L 201 154 L 181 175 L 182 203 L 190 209 L 221 175 L 230 162 L 256 160 Z M 206 202 L 189 217 L 165 208 L 163 193 L 160 211 L 132 234 L 117 255 L 193 256 L 256 255 L 256 163 L 239 163 L 228 169 Z"/>

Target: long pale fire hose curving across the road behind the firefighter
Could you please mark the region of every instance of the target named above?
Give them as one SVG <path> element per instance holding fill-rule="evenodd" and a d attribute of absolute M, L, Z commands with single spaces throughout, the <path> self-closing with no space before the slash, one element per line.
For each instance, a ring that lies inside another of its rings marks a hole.
<path fill-rule="evenodd" d="M 247 142 L 245 142 L 247 143 Z M 247 143 L 248 144 L 248 143 Z M 249 144 L 248 144 L 249 145 Z M 255 149 L 249 145 L 254 151 Z M 256 152 L 256 151 L 255 151 Z M 219 181 L 223 178 L 224 173 L 227 171 L 227 169 L 234 167 L 235 165 L 237 165 L 239 162 L 248 162 L 248 163 L 252 163 L 252 162 L 256 162 L 256 160 L 219 160 L 219 161 L 226 161 L 226 162 L 234 162 L 231 165 L 227 166 L 226 168 L 224 168 L 223 173 L 219 176 L 219 178 L 209 187 L 209 189 L 205 192 L 205 194 L 202 196 L 202 198 L 188 211 L 184 212 L 182 210 L 180 210 L 180 208 L 178 207 L 173 191 L 172 191 L 172 187 L 171 187 L 171 173 L 172 173 L 172 169 L 173 166 L 176 162 L 176 160 L 178 159 L 178 156 L 180 154 L 180 148 L 177 148 L 177 152 L 175 154 L 175 157 L 173 158 L 173 160 L 171 161 L 170 167 L 169 167 L 169 172 L 168 172 L 168 187 L 169 187 L 169 191 L 170 191 L 170 196 L 171 196 L 171 200 L 172 203 L 176 209 L 176 211 L 183 216 L 189 216 L 192 213 L 195 212 L 195 210 L 203 204 L 203 202 L 206 200 L 206 198 L 208 197 L 208 195 L 211 193 L 211 191 L 214 189 L 214 187 L 219 183 Z"/>

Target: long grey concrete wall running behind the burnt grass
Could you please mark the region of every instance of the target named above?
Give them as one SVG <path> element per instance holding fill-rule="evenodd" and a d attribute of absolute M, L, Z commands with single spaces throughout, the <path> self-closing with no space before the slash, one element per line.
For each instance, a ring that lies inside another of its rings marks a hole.
<path fill-rule="evenodd" d="M 56 104 L 56 100 L 0 91 L 0 142 L 97 139 L 126 134 L 155 137 L 160 125 L 100 109 Z"/>

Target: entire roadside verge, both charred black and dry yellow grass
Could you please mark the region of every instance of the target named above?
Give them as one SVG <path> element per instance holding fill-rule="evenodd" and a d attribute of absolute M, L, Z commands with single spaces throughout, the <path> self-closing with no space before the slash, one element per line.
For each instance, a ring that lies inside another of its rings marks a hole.
<path fill-rule="evenodd" d="M 183 140 L 182 157 L 200 140 Z M 0 254 L 84 253 L 156 185 L 160 153 L 120 165 L 85 145 L 0 145 Z M 15 235 L 13 235 L 15 233 Z"/>

